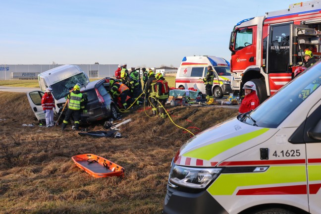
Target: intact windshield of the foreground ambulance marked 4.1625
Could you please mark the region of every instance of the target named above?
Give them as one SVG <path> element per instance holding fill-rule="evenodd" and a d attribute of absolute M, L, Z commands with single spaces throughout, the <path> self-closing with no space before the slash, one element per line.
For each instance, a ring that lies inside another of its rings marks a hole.
<path fill-rule="evenodd" d="M 250 112 L 237 118 L 250 125 L 276 128 L 321 85 L 321 63 L 311 67 L 302 75 L 281 88 L 270 99 Z"/>

